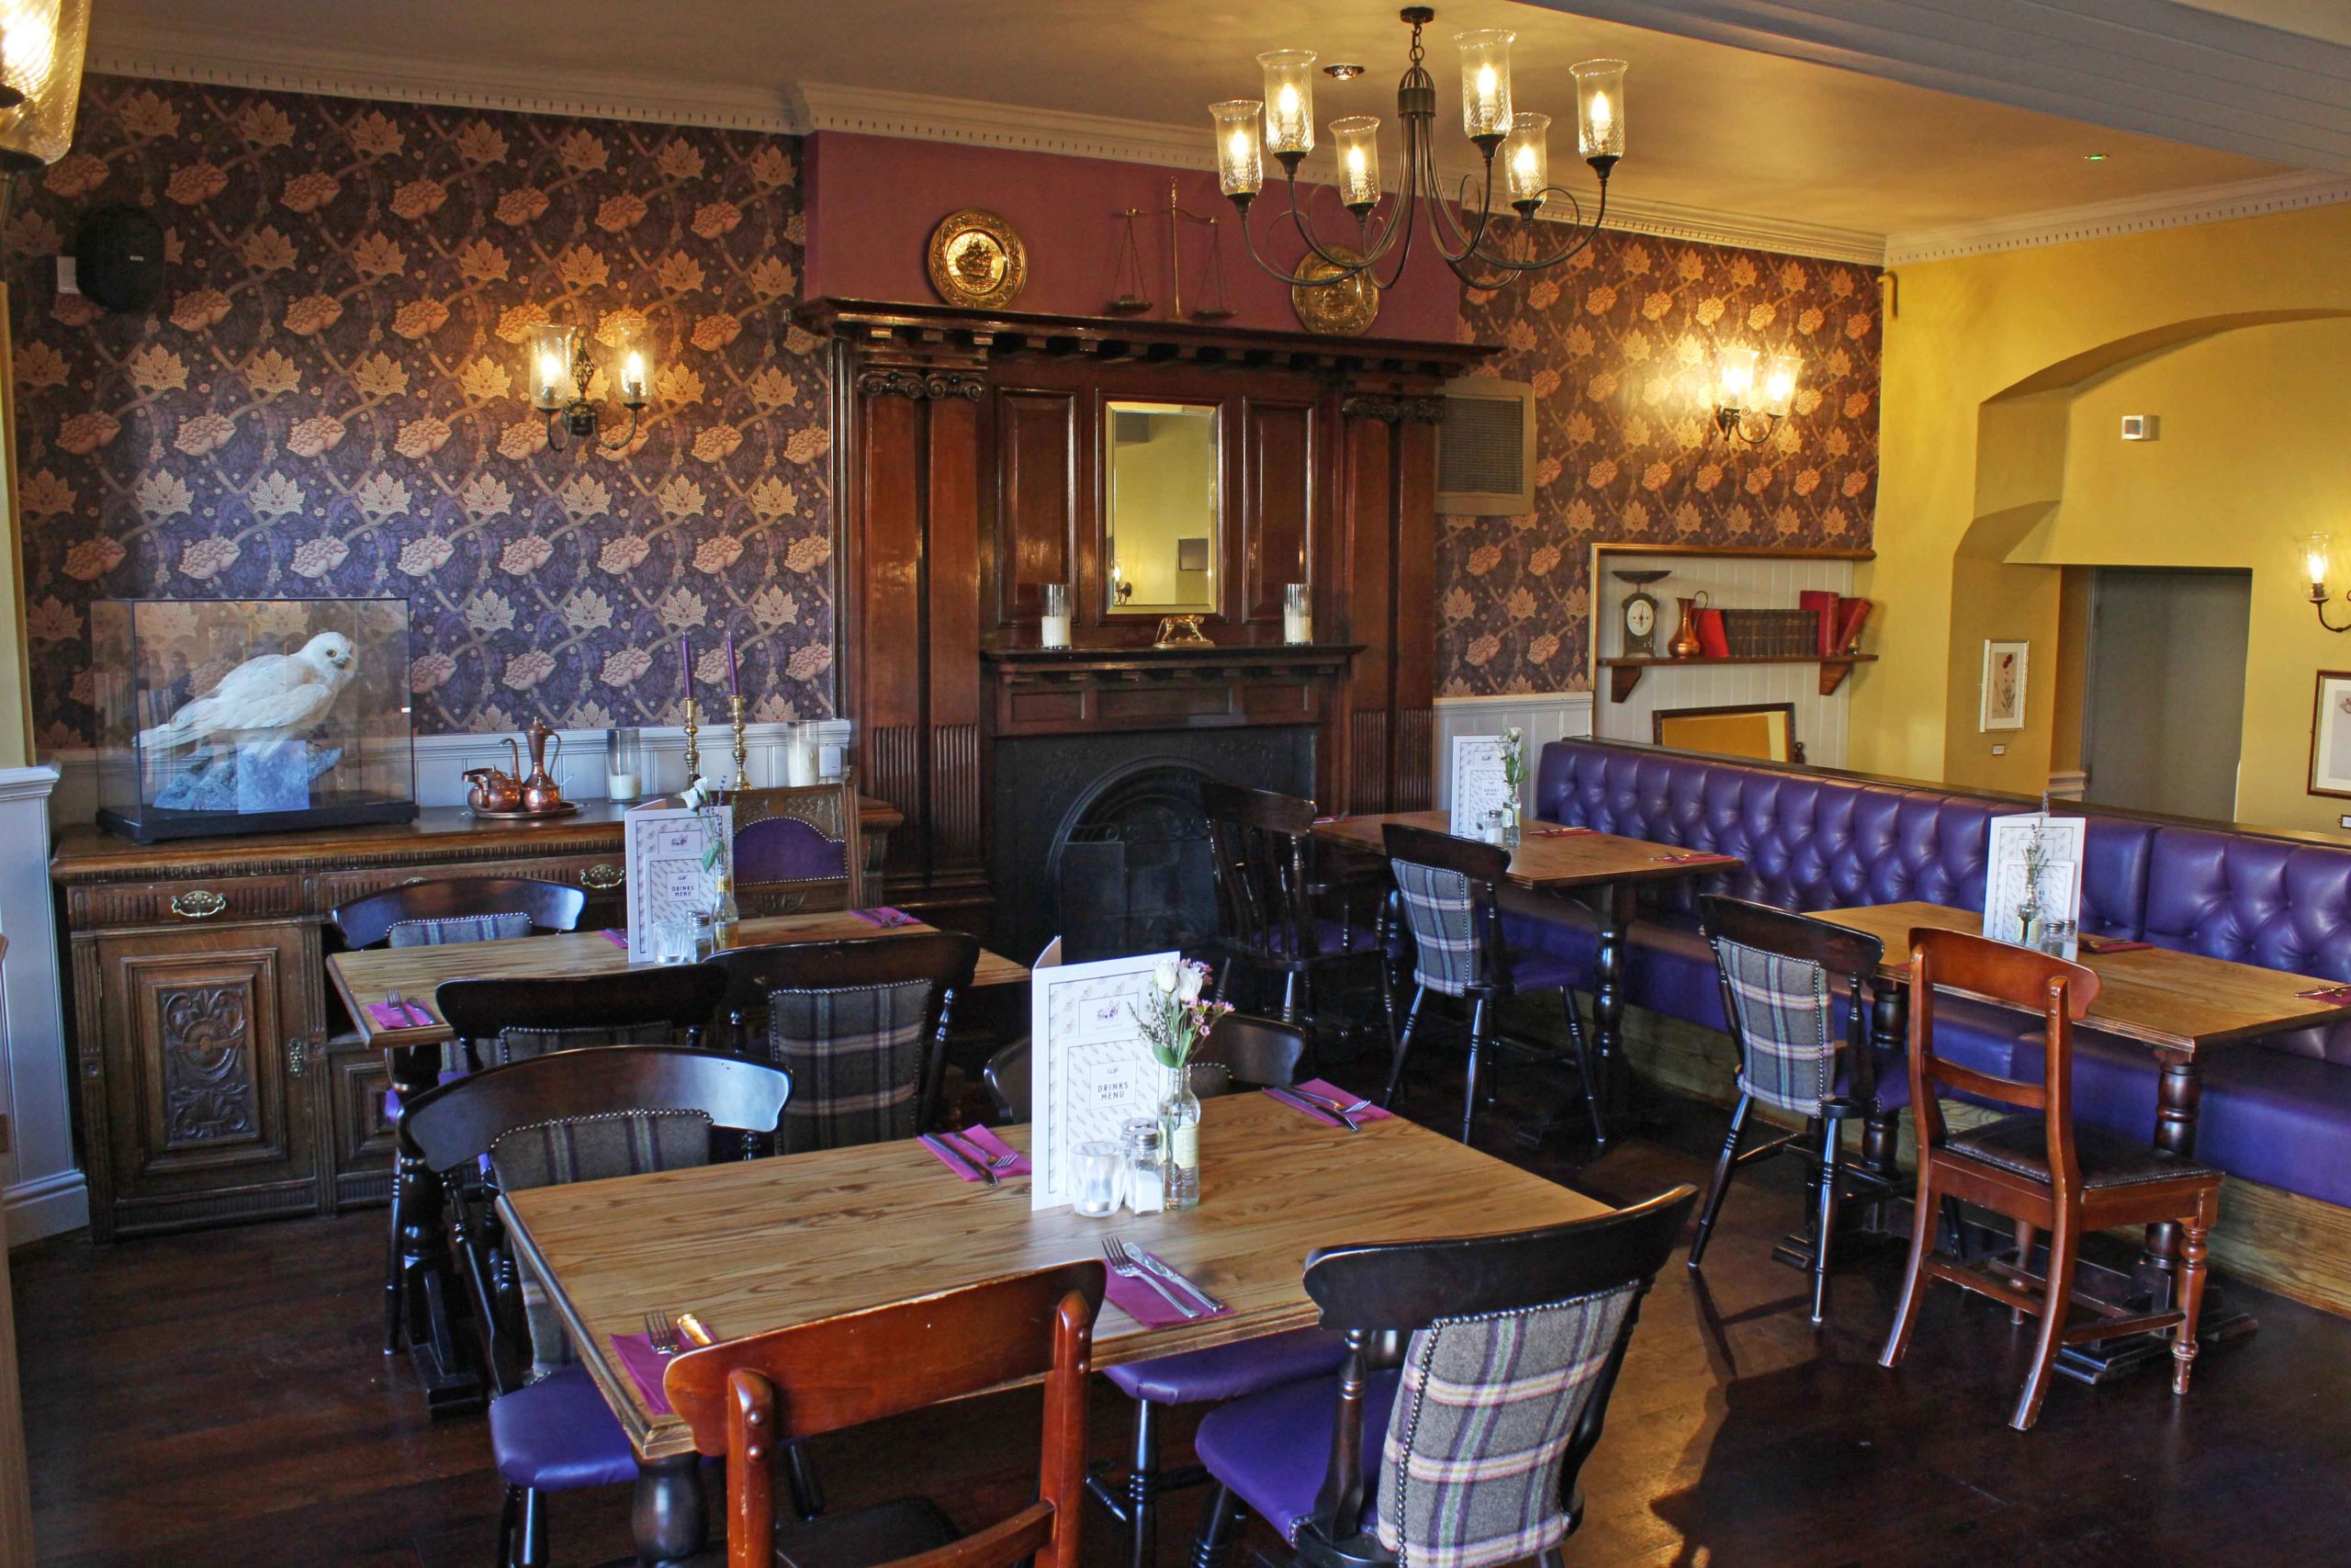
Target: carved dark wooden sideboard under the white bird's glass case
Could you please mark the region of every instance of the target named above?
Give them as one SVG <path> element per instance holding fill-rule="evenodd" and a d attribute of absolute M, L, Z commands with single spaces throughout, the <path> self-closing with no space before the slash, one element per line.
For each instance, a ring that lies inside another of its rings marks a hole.
<path fill-rule="evenodd" d="M 891 806 L 860 802 L 868 898 Z M 108 1241 L 334 1213 L 390 1194 L 383 1058 L 329 999 L 327 914 L 428 877 L 543 877 L 588 889 L 583 926 L 623 914 L 621 811 L 132 844 L 59 835 L 49 877 L 68 961 L 75 1140 L 89 1229 Z"/>

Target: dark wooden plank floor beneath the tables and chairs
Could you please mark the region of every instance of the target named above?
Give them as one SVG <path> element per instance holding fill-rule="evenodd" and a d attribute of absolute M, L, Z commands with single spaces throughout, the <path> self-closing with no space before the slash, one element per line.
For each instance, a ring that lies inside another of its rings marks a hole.
<path fill-rule="evenodd" d="M 1418 1107 L 1434 1119 L 1444 1103 L 1432 1081 Z M 1702 1180 L 1719 1126 L 1716 1110 L 1674 1107 L 1665 1131 L 1603 1159 L 1566 1147 L 1533 1164 L 1625 1201 Z M 2059 1382 L 2020 1436 L 2005 1418 L 2027 1331 L 2005 1309 L 1940 1288 L 1909 1366 L 1878 1371 L 1900 1260 L 1843 1274 L 1815 1333 L 1803 1281 L 1766 1260 L 1794 1222 L 1799 1171 L 1754 1178 L 1704 1279 L 1676 1258 L 1648 1302 L 1585 1474 L 1573 1563 L 2351 1561 L 2351 1324 L 2238 1291 L 2262 1331 L 2208 1352 L 2184 1403 L 2158 1378 Z M 482 1422 L 428 1420 L 407 1363 L 376 1347 L 381 1258 L 381 1213 L 24 1248 L 42 1561 L 487 1566 L 498 1483 Z M 1124 1418 L 1107 1396 L 1096 1408 L 1107 1455 Z M 1009 1396 L 849 1434 L 818 1458 L 837 1505 L 929 1490 L 976 1521 L 1032 1486 L 1032 1401 Z M 1199 1493 L 1171 1502 L 1164 1563 L 1183 1561 L 1197 1507 Z M 557 1502 L 557 1563 L 625 1552 L 625 1493 Z M 1117 1559 L 1107 1530 L 1089 1556 Z"/>

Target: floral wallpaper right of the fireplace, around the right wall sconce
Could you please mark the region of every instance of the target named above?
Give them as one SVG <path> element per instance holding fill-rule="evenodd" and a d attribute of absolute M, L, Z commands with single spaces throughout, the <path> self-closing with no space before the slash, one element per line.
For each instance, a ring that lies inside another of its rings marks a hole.
<path fill-rule="evenodd" d="M 1878 480 L 1878 287 L 1862 266 L 1610 233 L 1561 273 L 1465 294 L 1486 374 L 1535 388 L 1535 512 L 1441 517 L 1444 696 L 1585 691 L 1592 543 L 1867 545 Z M 1714 346 L 1803 357 L 1796 411 L 1730 447 Z M 1794 609 L 1794 607 L 1791 607 Z"/>

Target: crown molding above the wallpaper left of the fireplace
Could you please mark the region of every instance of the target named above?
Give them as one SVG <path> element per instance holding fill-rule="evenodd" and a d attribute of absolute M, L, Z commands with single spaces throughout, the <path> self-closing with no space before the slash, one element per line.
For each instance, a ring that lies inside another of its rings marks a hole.
<path fill-rule="evenodd" d="M 331 99 L 440 103 L 449 108 L 705 125 L 738 132 L 806 129 L 783 89 L 719 87 L 663 78 L 564 71 L 560 85 L 529 71 L 484 71 L 433 59 L 315 49 L 282 38 L 252 38 L 214 28 L 172 28 L 110 21 L 106 7 L 89 40 L 89 71 L 103 75 L 308 92 Z"/>

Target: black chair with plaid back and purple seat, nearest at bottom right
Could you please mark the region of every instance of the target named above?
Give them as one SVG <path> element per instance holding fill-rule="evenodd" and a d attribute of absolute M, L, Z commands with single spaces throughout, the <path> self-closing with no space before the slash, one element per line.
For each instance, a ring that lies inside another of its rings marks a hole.
<path fill-rule="evenodd" d="M 1695 1201 L 1683 1185 L 1516 1234 L 1317 1248 L 1305 1286 L 1345 1366 L 1201 1418 L 1215 1495 L 1194 1568 L 1251 1514 L 1331 1568 L 1561 1568 L 1641 1298 Z"/>

